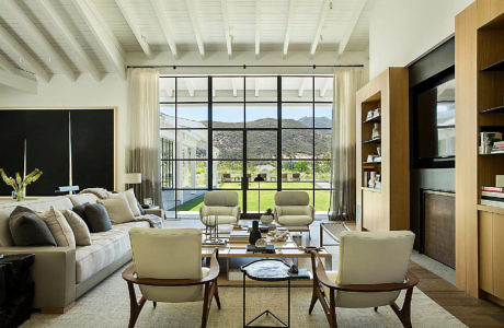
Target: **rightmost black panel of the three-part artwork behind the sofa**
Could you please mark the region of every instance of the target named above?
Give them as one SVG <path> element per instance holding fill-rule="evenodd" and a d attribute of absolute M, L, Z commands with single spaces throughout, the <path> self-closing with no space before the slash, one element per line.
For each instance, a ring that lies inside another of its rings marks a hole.
<path fill-rule="evenodd" d="M 114 110 L 71 112 L 73 185 L 114 190 Z"/>

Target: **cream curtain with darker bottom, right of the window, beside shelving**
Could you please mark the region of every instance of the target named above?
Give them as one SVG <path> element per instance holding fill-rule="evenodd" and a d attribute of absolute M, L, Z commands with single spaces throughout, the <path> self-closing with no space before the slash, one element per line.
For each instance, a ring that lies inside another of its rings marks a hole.
<path fill-rule="evenodd" d="M 355 220 L 355 94 L 362 68 L 334 70 L 331 220 Z"/>

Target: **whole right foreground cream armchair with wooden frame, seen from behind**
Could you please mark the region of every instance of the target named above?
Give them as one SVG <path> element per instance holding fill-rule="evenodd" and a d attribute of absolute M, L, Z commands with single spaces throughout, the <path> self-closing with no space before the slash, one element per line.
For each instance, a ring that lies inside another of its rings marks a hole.
<path fill-rule="evenodd" d="M 330 327 L 337 327 L 335 307 L 390 305 L 404 327 L 411 327 L 410 306 L 413 288 L 419 283 L 408 272 L 415 235 L 410 231 L 342 232 L 340 268 L 325 271 L 317 253 L 311 253 L 313 294 L 309 314 L 317 301 L 323 307 Z M 396 304 L 406 290 L 402 308 Z"/>

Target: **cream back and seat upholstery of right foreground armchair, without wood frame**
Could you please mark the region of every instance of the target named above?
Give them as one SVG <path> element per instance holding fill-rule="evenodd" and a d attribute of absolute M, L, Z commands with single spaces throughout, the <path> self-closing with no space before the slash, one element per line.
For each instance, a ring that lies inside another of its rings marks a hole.
<path fill-rule="evenodd" d="M 342 232 L 339 284 L 400 283 L 404 281 L 415 235 L 410 231 Z M 399 292 L 336 293 L 339 307 L 391 304 Z"/>

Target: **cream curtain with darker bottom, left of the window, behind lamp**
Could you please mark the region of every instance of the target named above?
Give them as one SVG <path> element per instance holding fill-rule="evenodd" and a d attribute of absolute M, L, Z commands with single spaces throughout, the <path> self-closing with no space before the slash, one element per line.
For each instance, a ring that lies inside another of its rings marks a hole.
<path fill-rule="evenodd" d="M 159 162 L 158 70 L 128 69 L 126 172 L 141 173 L 135 195 L 162 206 Z"/>

